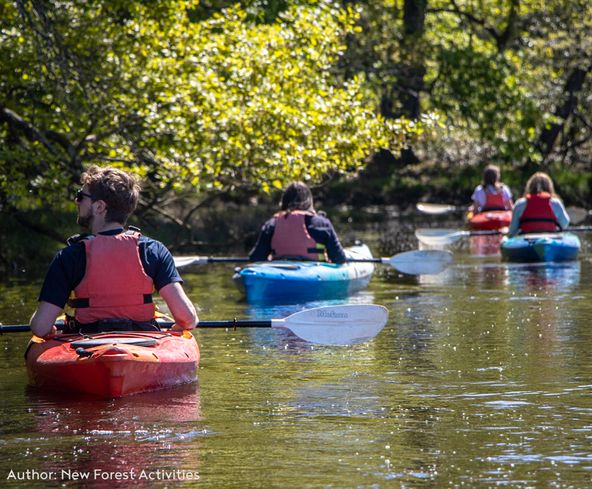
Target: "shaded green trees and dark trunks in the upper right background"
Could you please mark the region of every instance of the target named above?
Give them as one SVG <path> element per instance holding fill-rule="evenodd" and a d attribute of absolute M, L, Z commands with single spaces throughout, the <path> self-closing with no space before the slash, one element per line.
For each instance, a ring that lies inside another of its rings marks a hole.
<path fill-rule="evenodd" d="M 415 30 L 405 16 L 413 8 L 425 14 Z M 442 131 L 416 147 L 424 157 L 523 171 L 591 166 L 590 2 L 363 1 L 358 27 L 341 72 L 366 73 L 365 93 L 383 114 L 409 110 L 410 92 L 421 111 L 442 114 Z M 570 92 L 578 73 L 584 83 Z M 558 130 L 548 152 L 545 128 Z"/>

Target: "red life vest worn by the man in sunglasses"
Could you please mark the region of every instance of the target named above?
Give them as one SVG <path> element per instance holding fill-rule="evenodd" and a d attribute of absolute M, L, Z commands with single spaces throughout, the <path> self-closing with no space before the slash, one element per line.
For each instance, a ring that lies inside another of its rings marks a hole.
<path fill-rule="evenodd" d="M 74 289 L 75 318 L 83 324 L 104 319 L 148 322 L 155 315 L 154 281 L 138 252 L 139 233 L 85 239 L 86 272 Z"/>

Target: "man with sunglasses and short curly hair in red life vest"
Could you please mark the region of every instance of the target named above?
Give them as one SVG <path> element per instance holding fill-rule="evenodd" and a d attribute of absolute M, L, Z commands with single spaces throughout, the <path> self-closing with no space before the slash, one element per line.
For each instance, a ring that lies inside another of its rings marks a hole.
<path fill-rule="evenodd" d="M 191 330 L 198 323 L 173 257 L 159 241 L 124 229 L 140 193 L 132 174 L 93 165 L 81 179 L 75 201 L 78 224 L 91 234 L 68 239 L 43 282 L 39 306 L 31 318 L 37 337 L 52 337 L 54 323 L 66 303 L 63 332 L 157 330 L 155 289 L 175 320 L 173 330 Z"/>

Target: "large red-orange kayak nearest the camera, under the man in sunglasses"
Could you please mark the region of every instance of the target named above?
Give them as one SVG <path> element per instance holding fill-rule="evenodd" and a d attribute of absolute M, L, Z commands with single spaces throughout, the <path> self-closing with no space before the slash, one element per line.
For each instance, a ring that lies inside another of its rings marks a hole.
<path fill-rule="evenodd" d="M 192 382 L 200 361 L 188 331 L 32 337 L 25 354 L 35 387 L 122 397 Z"/>

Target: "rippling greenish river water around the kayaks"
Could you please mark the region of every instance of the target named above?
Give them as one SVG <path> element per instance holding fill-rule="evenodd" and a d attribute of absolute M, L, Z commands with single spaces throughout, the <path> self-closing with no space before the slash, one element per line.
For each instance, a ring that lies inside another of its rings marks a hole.
<path fill-rule="evenodd" d="M 417 247 L 398 222 L 356 237 L 375 256 Z M 389 322 L 349 347 L 197 330 L 198 381 L 123 399 L 28 387 L 30 335 L 5 334 L 0 486 L 592 487 L 592 235 L 581 238 L 563 265 L 503 264 L 489 241 L 463 239 L 442 274 L 379 265 L 356 296 L 298 305 L 249 305 L 233 265 L 183 269 L 203 320 L 377 303 Z M 41 283 L 2 279 L 4 324 L 28 322 Z"/>

